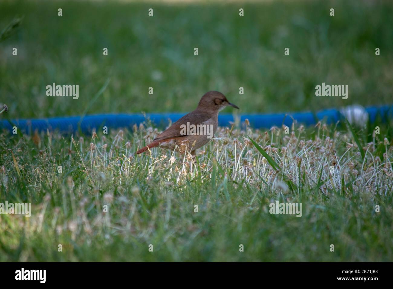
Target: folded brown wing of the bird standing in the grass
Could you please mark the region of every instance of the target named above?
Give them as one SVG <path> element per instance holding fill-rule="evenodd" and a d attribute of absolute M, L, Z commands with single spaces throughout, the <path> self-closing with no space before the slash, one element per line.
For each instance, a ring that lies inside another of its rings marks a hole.
<path fill-rule="evenodd" d="M 180 127 L 181 125 L 187 125 L 187 122 L 194 125 L 202 124 L 204 121 L 208 120 L 211 118 L 211 115 L 198 111 L 196 112 L 195 110 L 186 114 L 182 118 L 180 118 L 178 121 L 174 122 L 173 125 L 165 129 L 162 133 L 160 133 L 156 138 L 154 138 L 153 141 L 156 140 L 166 140 L 167 138 L 178 138 L 180 136 L 185 136 L 185 134 L 180 134 L 180 131 L 182 128 Z"/>

